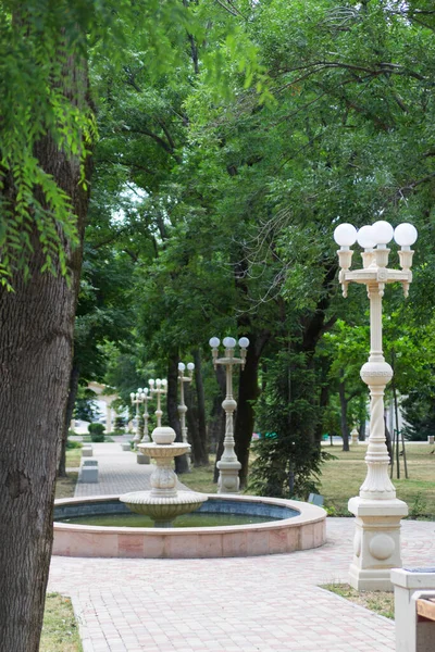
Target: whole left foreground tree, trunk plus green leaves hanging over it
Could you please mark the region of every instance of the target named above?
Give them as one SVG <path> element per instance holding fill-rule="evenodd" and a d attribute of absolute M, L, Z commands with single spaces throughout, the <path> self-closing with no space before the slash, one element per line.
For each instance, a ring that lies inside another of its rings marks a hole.
<path fill-rule="evenodd" d="M 0 638 L 11 652 L 39 648 L 88 203 L 85 26 L 59 5 L 0 10 Z"/>

